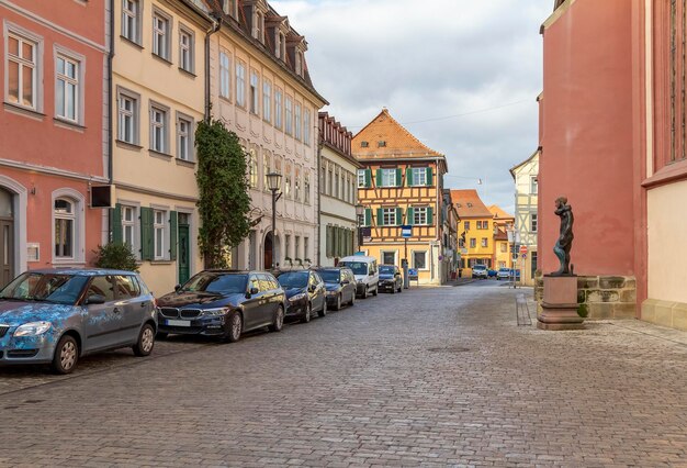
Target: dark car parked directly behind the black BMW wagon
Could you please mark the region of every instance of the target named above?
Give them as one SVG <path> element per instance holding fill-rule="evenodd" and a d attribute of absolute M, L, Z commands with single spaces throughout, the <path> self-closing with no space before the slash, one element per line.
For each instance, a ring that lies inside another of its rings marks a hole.
<path fill-rule="evenodd" d="M 286 316 L 311 321 L 313 312 L 327 315 L 327 290 L 319 275 L 309 270 L 284 271 L 277 279 L 286 294 Z"/>

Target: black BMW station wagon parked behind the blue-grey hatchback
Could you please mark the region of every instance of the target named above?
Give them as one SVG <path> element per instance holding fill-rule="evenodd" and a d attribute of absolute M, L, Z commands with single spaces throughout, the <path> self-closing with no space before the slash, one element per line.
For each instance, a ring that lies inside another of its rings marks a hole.
<path fill-rule="evenodd" d="M 280 332 L 286 297 L 266 271 L 204 270 L 158 299 L 159 332 L 219 336 L 237 342 L 244 332 Z"/>

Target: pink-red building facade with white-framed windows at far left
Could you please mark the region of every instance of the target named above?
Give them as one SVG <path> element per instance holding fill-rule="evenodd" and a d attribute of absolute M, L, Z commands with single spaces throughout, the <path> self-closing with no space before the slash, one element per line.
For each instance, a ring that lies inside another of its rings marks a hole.
<path fill-rule="evenodd" d="M 0 286 L 83 266 L 106 237 L 105 0 L 0 1 Z"/>

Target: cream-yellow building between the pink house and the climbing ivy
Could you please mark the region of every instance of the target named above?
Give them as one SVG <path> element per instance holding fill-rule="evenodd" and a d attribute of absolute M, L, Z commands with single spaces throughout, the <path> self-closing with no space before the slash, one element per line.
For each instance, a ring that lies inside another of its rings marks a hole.
<path fill-rule="evenodd" d="M 114 9 L 111 227 L 161 296 L 202 268 L 193 138 L 213 20 L 191 0 L 117 0 Z"/>

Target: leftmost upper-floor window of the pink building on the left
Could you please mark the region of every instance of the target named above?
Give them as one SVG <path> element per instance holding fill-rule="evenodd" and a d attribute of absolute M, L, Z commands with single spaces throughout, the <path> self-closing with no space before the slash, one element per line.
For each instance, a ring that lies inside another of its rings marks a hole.
<path fill-rule="evenodd" d="M 7 99 L 12 104 L 37 110 L 38 43 L 12 32 L 7 38 Z"/>

